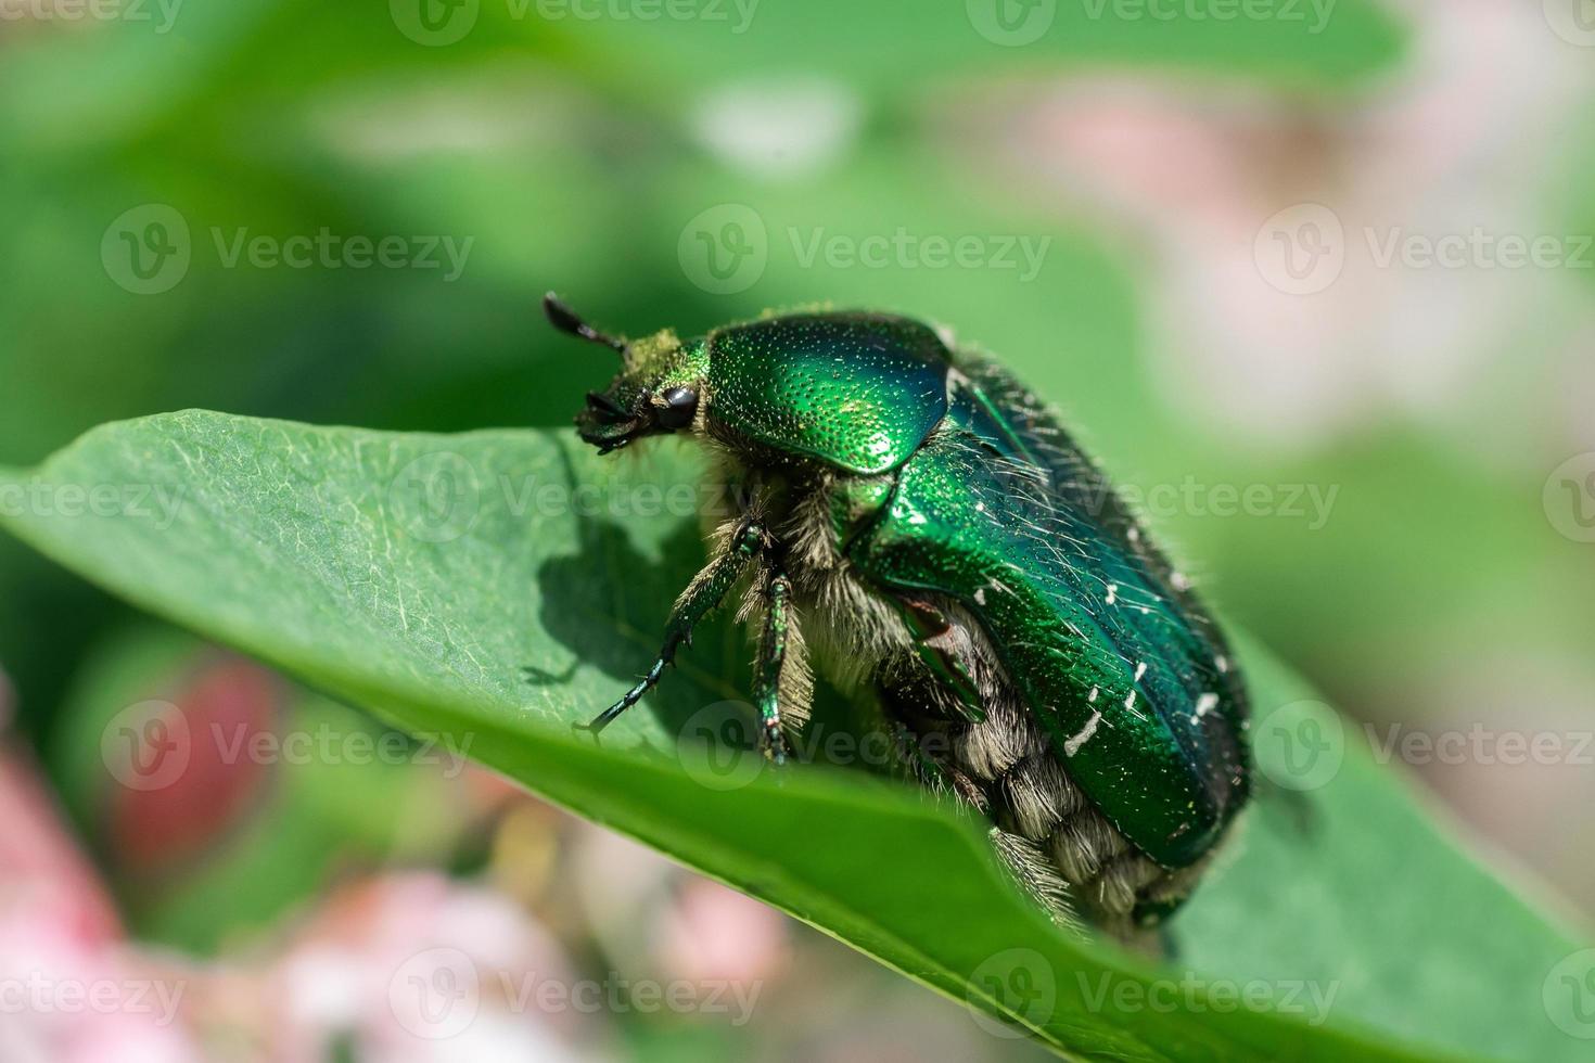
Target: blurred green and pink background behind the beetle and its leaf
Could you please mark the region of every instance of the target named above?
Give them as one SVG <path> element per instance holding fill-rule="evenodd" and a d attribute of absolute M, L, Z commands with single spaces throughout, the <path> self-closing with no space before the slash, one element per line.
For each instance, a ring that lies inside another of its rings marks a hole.
<path fill-rule="evenodd" d="M 0 0 L 0 464 L 566 426 L 545 288 L 933 319 L 1587 921 L 1592 102 L 1589 0 Z M 0 1058 L 1034 1055 L 11 540 L 0 668 Z M 144 786 L 150 700 L 234 755 Z M 486 971 L 456 1038 L 394 1002 Z"/>

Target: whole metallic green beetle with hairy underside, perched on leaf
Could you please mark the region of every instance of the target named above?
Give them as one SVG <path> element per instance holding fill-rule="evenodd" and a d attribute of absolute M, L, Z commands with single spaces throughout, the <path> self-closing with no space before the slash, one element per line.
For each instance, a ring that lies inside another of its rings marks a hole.
<path fill-rule="evenodd" d="M 691 433 L 743 499 L 659 658 L 592 730 L 746 580 L 772 760 L 809 716 L 807 642 L 839 685 L 879 695 L 904 763 L 992 821 L 1054 915 L 1129 937 L 1183 900 L 1247 798 L 1246 690 L 1185 577 L 1035 395 L 908 317 L 627 343 L 544 308 L 624 360 L 587 395 L 582 440 Z"/>

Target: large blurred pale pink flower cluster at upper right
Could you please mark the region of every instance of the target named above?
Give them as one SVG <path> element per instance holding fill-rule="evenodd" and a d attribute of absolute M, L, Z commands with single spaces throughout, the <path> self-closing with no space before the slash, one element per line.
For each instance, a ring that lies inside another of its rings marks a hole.
<path fill-rule="evenodd" d="M 1577 234 L 1546 204 L 1581 172 L 1595 67 L 1538 3 L 1400 8 L 1410 54 L 1361 96 L 1070 80 L 1040 102 L 1016 96 L 1003 153 L 1153 249 L 1152 354 L 1171 406 L 1286 446 L 1408 418 L 1477 453 L 1501 449 L 1480 440 L 1488 405 L 1493 424 L 1539 430 L 1514 440 L 1528 462 L 1565 456 L 1587 426 L 1541 411 L 1584 360 L 1587 274 L 1388 249 L 1479 231 L 1563 241 L 1571 258 Z M 1325 247 L 1343 263 L 1322 260 L 1302 290 L 1271 276 L 1281 234 L 1303 265 Z"/>

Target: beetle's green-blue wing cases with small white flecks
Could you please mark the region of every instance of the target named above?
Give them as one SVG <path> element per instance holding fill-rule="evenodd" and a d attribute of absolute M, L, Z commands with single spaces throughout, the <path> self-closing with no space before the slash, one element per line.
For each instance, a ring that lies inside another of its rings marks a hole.
<path fill-rule="evenodd" d="M 990 362 L 959 370 L 944 430 L 849 556 L 971 612 L 1093 803 L 1158 864 L 1193 864 L 1247 792 L 1222 636 L 1048 411 Z"/>

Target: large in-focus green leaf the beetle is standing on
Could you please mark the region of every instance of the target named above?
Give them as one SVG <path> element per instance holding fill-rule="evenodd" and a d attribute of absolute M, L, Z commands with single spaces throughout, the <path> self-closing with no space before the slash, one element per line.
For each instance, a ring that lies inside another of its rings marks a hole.
<path fill-rule="evenodd" d="M 646 665 L 702 561 L 686 516 L 723 500 L 700 481 L 668 445 L 597 461 L 563 432 L 392 435 L 190 411 L 97 429 L 33 473 L 0 470 L 0 521 L 152 612 L 469 743 L 549 800 L 1059 1052 L 1582 1055 L 1565 1033 L 1576 1017 L 1552 1017 L 1552 969 L 1577 942 L 1356 741 L 1337 744 L 1322 786 L 1247 816 L 1163 967 L 1054 931 L 979 829 L 924 795 L 815 765 L 775 778 L 731 757 L 716 771 L 691 735 L 745 688 L 727 625 L 601 746 L 577 741 L 571 724 Z M 1244 657 L 1258 757 L 1284 778 L 1271 711 L 1311 692 L 1255 647 Z"/>

